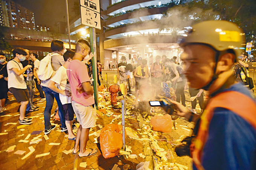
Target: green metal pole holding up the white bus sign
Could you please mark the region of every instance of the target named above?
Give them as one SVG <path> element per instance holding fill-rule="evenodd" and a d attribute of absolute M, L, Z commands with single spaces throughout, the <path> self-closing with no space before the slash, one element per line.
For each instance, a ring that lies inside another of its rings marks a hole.
<path fill-rule="evenodd" d="M 91 67 L 93 69 L 93 89 L 94 89 L 94 101 L 96 109 L 98 109 L 98 74 L 97 74 L 97 56 L 96 56 L 96 35 L 95 28 L 90 27 L 90 42 L 91 42 L 91 52 L 94 57 L 91 59 Z"/>

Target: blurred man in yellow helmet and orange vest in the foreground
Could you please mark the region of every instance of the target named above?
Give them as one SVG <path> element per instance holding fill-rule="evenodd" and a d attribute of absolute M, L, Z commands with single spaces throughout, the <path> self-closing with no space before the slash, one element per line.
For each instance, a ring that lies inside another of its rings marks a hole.
<path fill-rule="evenodd" d="M 190 145 L 194 169 L 256 167 L 256 101 L 232 75 L 242 45 L 244 33 L 228 21 L 195 24 L 180 43 L 189 86 L 209 94 L 202 115 L 171 101 L 177 106 L 177 115 L 199 125 Z"/>

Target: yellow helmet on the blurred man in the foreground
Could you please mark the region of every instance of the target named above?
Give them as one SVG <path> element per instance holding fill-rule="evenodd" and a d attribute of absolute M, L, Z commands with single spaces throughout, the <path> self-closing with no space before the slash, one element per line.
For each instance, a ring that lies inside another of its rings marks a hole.
<path fill-rule="evenodd" d="M 233 22 L 203 21 L 192 26 L 180 46 L 199 43 L 209 45 L 216 51 L 232 49 L 237 59 L 245 45 L 244 35 L 242 29 Z"/>

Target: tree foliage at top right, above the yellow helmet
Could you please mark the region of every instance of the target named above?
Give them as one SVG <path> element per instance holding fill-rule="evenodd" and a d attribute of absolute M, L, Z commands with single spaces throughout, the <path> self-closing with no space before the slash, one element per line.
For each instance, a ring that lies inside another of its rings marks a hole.
<path fill-rule="evenodd" d="M 226 20 L 242 28 L 247 42 L 255 43 L 255 9 L 255 0 L 181 0 L 180 5 L 165 13 L 161 30 L 173 25 L 179 31 L 201 21 Z"/>

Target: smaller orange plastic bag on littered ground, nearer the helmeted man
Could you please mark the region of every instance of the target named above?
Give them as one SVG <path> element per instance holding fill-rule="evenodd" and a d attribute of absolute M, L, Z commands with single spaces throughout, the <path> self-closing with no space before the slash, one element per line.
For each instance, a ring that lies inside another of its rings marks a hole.
<path fill-rule="evenodd" d="M 172 132 L 172 116 L 164 115 L 164 116 L 154 116 L 150 121 L 153 126 L 152 130 L 171 133 Z"/>

